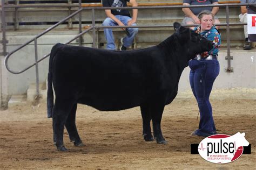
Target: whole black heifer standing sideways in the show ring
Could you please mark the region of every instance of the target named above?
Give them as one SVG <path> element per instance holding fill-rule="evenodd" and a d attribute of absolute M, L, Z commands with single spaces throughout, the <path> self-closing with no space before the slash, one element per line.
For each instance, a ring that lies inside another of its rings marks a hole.
<path fill-rule="evenodd" d="M 70 140 L 82 146 L 76 124 L 77 103 L 103 111 L 139 106 L 146 141 L 166 141 L 160 122 L 166 104 L 177 95 L 181 72 L 188 60 L 209 51 L 211 41 L 174 23 L 176 32 L 157 46 L 134 51 L 109 51 L 56 44 L 52 47 L 48 74 L 48 117 L 53 121 L 53 140 L 60 151 L 64 126 Z M 53 107 L 53 91 L 56 100 Z"/>

